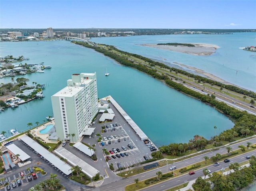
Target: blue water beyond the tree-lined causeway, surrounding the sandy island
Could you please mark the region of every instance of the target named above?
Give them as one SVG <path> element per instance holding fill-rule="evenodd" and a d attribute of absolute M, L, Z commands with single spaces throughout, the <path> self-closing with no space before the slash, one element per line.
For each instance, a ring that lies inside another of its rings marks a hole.
<path fill-rule="evenodd" d="M 114 45 L 123 51 L 164 61 L 170 65 L 175 65 L 174 62 L 177 62 L 196 67 L 239 87 L 256 91 L 256 52 L 242 49 L 242 47 L 256 45 L 256 33 L 101 37 L 92 38 L 91 41 Z M 142 44 L 171 42 L 206 43 L 218 45 L 220 48 L 212 55 L 198 56 L 142 46 Z M 188 69 L 188 71 L 191 70 Z"/>

